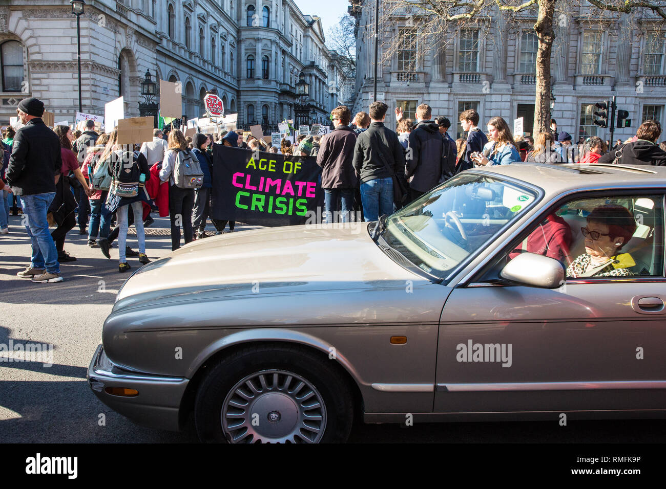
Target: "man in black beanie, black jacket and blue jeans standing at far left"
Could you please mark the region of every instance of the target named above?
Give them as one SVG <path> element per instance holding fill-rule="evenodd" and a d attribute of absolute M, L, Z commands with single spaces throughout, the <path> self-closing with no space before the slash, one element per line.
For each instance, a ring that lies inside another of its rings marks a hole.
<path fill-rule="evenodd" d="M 21 199 L 23 214 L 28 216 L 25 229 L 33 252 L 30 266 L 18 276 L 38 283 L 59 282 L 63 277 L 58 251 L 46 216 L 55 197 L 55 175 L 63 166 L 60 140 L 41 119 L 44 104 L 37 98 L 24 98 L 16 112 L 25 126 L 14 136 L 7 183 Z"/>

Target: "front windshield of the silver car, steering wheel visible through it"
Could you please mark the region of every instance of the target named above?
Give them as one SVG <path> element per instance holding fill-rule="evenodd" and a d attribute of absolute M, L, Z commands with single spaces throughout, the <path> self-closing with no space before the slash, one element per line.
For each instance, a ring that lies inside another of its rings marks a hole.
<path fill-rule="evenodd" d="M 513 182 L 465 172 L 389 216 L 381 236 L 414 265 L 444 279 L 535 199 L 533 190 Z"/>

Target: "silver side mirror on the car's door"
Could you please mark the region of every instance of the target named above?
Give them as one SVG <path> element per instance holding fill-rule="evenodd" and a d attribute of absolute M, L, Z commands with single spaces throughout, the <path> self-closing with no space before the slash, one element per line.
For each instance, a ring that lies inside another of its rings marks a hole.
<path fill-rule="evenodd" d="M 500 271 L 500 277 L 529 287 L 557 289 L 564 282 L 564 267 L 554 258 L 521 253 Z"/>

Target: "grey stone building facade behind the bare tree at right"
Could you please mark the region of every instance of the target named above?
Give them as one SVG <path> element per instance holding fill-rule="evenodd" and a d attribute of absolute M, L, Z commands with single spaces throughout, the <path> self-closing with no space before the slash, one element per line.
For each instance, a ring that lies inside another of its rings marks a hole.
<path fill-rule="evenodd" d="M 357 25 L 358 96 L 354 112 L 367 111 L 374 82 L 374 2 L 354 0 L 349 10 Z M 484 129 L 483 124 L 492 116 L 505 118 L 509 126 L 522 116 L 525 134 L 531 134 L 536 18 L 523 15 L 508 28 L 505 17 L 496 13 L 482 27 L 451 33 L 443 47 L 417 41 L 416 47 L 409 49 L 410 43 L 405 43 L 406 49 L 398 49 L 386 59 L 382 52 L 390 37 L 408 29 L 409 15 L 415 13 L 405 12 L 394 18 L 390 29 L 380 29 L 377 91 L 385 94 L 384 101 L 390 106 L 386 117 L 390 125 L 395 122 L 392 111 L 396 106 L 414 118 L 416 106 L 427 103 L 434 109 L 433 116 L 447 116 L 455 124 L 449 131 L 451 136 L 462 133 L 458 116 L 468 108 L 478 110 Z M 555 22 L 551 116 L 558 129 L 569 132 L 574 140 L 591 135 L 607 139 L 608 129 L 592 122 L 593 112 L 598 110 L 593 104 L 613 95 L 618 108 L 627 110 L 631 119 L 631 127 L 615 129 L 615 138 L 633 136 L 647 118 L 665 124 L 666 43 L 658 22 L 646 17 L 637 29 L 626 21 L 595 24 L 581 20 L 588 11 L 574 14 Z"/>

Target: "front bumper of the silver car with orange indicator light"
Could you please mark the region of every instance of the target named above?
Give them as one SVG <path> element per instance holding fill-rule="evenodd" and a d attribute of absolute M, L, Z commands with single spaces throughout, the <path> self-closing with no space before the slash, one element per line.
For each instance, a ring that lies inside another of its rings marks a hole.
<path fill-rule="evenodd" d="M 189 379 L 131 372 L 113 365 L 99 345 L 88 367 L 88 384 L 97 398 L 133 422 L 151 428 L 178 431 L 180 401 Z M 133 397 L 113 395 L 111 387 L 139 392 Z"/>

